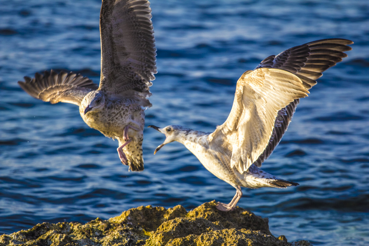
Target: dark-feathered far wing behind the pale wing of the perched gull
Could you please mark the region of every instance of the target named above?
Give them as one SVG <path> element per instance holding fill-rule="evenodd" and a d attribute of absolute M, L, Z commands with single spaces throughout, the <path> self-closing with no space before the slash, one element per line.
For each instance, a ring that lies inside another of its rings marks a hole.
<path fill-rule="evenodd" d="M 347 56 L 344 51 L 351 50 L 351 47 L 347 46 L 349 44 L 353 44 L 353 42 L 339 38 L 313 41 L 287 49 L 277 56 L 269 56 L 256 68 L 271 67 L 287 70 L 299 77 L 304 87 L 309 90 L 317 83 L 315 80 L 322 76 L 322 72 L 336 65 L 337 62 L 341 62 L 342 58 Z M 295 99 L 278 112 L 269 143 L 264 152 L 255 161 L 258 167 L 272 154 L 280 142 L 280 139 L 290 124 L 299 101 L 300 99 Z"/>

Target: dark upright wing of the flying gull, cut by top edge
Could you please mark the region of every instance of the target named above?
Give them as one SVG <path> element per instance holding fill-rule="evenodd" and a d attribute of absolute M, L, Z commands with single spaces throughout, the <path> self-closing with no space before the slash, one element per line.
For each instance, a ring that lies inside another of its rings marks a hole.
<path fill-rule="evenodd" d="M 137 91 L 150 96 L 156 73 L 156 48 L 147 0 L 103 0 L 100 13 L 99 90 Z"/>

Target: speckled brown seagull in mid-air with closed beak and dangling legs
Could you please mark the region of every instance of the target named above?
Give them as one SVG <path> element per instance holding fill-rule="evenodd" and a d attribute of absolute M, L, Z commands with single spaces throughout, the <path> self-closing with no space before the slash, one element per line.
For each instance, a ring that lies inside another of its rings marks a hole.
<path fill-rule="evenodd" d="M 156 73 L 156 48 L 147 0 L 103 0 L 100 11 L 100 85 L 76 73 L 45 71 L 24 77 L 20 87 L 32 97 L 72 103 L 86 124 L 118 140 L 128 170 L 144 170 L 142 140 L 146 98 Z"/>

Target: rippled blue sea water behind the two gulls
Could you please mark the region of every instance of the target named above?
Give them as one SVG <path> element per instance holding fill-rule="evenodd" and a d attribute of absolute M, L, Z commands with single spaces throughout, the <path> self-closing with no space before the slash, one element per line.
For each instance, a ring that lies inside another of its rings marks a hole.
<path fill-rule="evenodd" d="M 235 190 L 179 143 L 145 129 L 145 170 L 128 172 L 117 141 L 90 129 L 72 104 L 50 105 L 17 85 L 46 69 L 100 75 L 99 0 L 1 1 L 0 233 L 39 222 L 120 215 L 140 205 L 192 209 Z M 301 100 L 263 169 L 300 183 L 243 188 L 238 205 L 270 230 L 314 245 L 369 243 L 369 5 L 362 0 L 152 0 L 158 74 L 146 125 L 213 131 L 235 84 L 269 55 L 322 38 L 355 42 Z"/>

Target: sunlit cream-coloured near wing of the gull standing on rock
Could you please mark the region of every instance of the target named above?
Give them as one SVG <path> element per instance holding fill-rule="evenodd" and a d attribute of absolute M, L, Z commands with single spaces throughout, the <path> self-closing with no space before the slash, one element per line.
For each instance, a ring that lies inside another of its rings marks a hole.
<path fill-rule="evenodd" d="M 232 146 L 231 168 L 240 173 L 258 159 L 268 145 L 278 112 L 308 90 L 299 77 L 274 68 L 246 71 L 238 80 L 232 110 L 210 135 Z M 212 141 L 211 141 L 212 142 Z"/>

